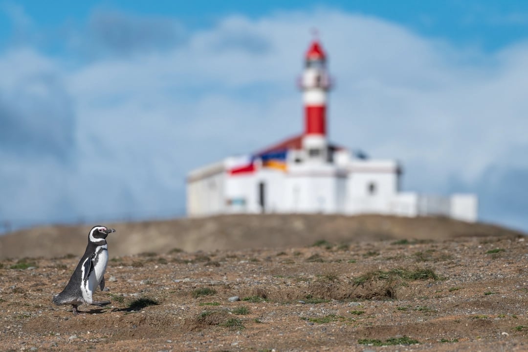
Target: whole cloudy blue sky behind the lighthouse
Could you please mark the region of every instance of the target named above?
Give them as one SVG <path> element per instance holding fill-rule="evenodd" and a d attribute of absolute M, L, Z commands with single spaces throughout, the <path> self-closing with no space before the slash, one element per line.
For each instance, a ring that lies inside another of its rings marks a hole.
<path fill-rule="evenodd" d="M 301 132 L 314 30 L 333 142 L 528 231 L 528 2 L 475 0 L 0 0 L 0 231 L 183 216 L 187 172 Z"/>

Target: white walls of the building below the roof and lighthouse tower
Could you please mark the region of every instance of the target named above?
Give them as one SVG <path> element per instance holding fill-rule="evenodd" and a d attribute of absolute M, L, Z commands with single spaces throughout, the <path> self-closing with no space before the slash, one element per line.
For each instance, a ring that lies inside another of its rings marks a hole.
<path fill-rule="evenodd" d="M 228 166 L 238 163 L 239 160 L 228 158 L 190 173 L 188 215 L 371 213 L 477 220 L 478 205 L 474 194 L 439 197 L 399 192 L 400 174 L 395 161 L 355 160 L 347 168 L 330 163 L 293 162 L 288 163 L 287 172 L 260 168 L 252 173 L 231 175 Z M 260 184 L 263 184 L 263 208 Z"/>

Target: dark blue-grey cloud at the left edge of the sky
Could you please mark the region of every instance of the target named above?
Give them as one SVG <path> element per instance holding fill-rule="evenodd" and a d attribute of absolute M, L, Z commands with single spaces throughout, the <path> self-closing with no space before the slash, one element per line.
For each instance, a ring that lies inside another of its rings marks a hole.
<path fill-rule="evenodd" d="M 0 58 L 0 70 L 0 154 L 65 162 L 75 149 L 75 116 L 60 72 L 25 49 Z"/>

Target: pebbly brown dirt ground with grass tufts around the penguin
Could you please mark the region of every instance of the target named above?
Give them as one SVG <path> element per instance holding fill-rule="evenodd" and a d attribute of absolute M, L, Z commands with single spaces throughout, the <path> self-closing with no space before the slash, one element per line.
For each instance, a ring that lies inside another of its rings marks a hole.
<path fill-rule="evenodd" d="M 528 350 L 528 238 L 413 238 L 116 256 L 109 237 L 112 303 L 81 316 L 51 303 L 78 255 L 4 258 L 0 350 Z"/>

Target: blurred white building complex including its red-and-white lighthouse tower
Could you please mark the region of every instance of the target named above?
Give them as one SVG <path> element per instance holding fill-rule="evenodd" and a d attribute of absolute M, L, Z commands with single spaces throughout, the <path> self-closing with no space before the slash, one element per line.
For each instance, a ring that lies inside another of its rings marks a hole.
<path fill-rule="evenodd" d="M 325 53 L 314 41 L 300 79 L 305 129 L 298 136 L 246 156 L 193 170 L 187 177 L 187 214 L 241 213 L 438 215 L 477 220 L 477 197 L 401 192 L 395 160 L 353 155 L 326 135 L 331 88 Z"/>

